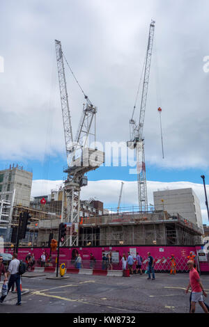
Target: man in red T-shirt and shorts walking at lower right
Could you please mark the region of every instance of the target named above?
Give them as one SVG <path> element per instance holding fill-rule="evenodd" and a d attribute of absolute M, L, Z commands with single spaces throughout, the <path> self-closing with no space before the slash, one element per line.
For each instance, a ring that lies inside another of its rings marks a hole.
<path fill-rule="evenodd" d="M 188 293 L 189 288 L 192 289 L 192 298 L 191 298 L 191 309 L 190 313 L 195 312 L 195 306 L 196 302 L 199 302 L 199 305 L 201 308 L 203 308 L 203 311 L 206 313 L 208 312 L 208 309 L 206 308 L 206 305 L 203 303 L 203 295 L 207 296 L 207 293 L 203 289 L 203 285 L 201 283 L 199 273 L 194 269 L 194 260 L 189 260 L 187 262 L 187 266 L 189 268 L 189 285 L 187 286 L 186 293 Z"/>

